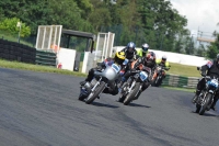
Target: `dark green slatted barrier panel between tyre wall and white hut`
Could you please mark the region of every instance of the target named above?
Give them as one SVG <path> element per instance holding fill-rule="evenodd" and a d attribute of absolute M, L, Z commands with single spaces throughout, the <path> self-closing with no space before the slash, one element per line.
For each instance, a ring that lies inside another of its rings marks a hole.
<path fill-rule="evenodd" d="M 36 49 L 36 65 L 56 67 L 56 53 Z"/>

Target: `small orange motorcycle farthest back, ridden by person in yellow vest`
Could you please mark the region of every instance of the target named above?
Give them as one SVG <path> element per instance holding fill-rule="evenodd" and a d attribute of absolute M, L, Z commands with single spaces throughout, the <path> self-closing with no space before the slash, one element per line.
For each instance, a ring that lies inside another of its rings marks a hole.
<path fill-rule="evenodd" d="M 163 66 L 157 66 L 155 72 L 154 72 L 157 75 L 153 77 L 151 86 L 160 87 L 162 85 L 163 77 L 165 76 L 165 70 L 168 71 L 169 69 L 170 68 L 166 68 Z"/>

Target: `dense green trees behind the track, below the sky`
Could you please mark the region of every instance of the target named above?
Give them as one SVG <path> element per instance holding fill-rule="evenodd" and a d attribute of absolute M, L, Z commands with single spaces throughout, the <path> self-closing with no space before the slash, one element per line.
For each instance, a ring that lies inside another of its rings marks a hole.
<path fill-rule="evenodd" d="M 114 45 L 131 41 L 138 47 L 148 43 L 152 49 L 206 55 L 195 49 L 185 29 L 187 19 L 168 0 L 1 0 L 0 29 L 5 30 L 7 19 L 25 23 L 25 35 L 31 36 L 36 36 L 38 25 L 62 25 L 95 34 L 111 31 Z"/>

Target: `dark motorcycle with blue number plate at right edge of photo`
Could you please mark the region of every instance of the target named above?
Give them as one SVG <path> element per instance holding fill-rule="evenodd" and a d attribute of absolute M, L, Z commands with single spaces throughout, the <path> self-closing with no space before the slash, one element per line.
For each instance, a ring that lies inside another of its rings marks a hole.
<path fill-rule="evenodd" d="M 197 67 L 197 70 L 200 70 L 200 68 Z M 209 76 L 205 76 L 205 80 L 206 88 L 200 92 L 198 97 L 195 96 L 193 98 L 193 103 L 196 104 L 196 113 L 199 113 L 199 115 L 203 115 L 206 111 L 210 110 L 214 102 L 214 97 L 219 89 L 218 78 L 210 78 Z"/>

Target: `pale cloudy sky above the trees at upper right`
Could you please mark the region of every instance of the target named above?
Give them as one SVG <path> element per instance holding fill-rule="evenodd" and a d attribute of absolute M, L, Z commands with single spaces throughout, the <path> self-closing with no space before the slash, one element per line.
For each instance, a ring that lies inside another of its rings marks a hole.
<path fill-rule="evenodd" d="M 219 0 L 170 0 L 178 14 L 185 15 L 189 31 L 200 31 L 211 35 L 219 32 Z"/>

